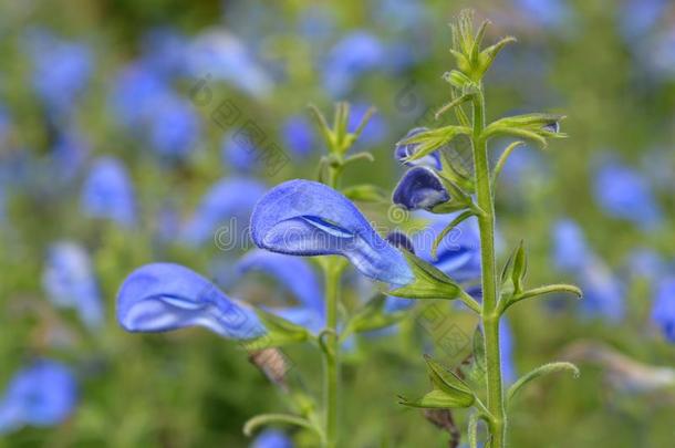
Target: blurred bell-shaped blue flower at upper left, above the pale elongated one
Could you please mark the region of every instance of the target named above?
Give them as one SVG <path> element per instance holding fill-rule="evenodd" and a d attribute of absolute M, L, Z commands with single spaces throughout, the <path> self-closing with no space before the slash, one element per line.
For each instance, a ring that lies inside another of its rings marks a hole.
<path fill-rule="evenodd" d="M 114 157 L 95 160 L 84 181 L 81 207 L 89 217 L 111 219 L 125 227 L 134 225 L 134 189 L 121 160 Z"/>

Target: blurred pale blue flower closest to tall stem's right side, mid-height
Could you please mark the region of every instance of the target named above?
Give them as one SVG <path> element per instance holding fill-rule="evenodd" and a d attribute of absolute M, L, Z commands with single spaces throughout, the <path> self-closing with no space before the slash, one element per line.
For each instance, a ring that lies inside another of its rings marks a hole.
<path fill-rule="evenodd" d="M 553 262 L 558 269 L 579 272 L 593 258 L 583 230 L 571 219 L 560 219 L 553 226 Z"/>

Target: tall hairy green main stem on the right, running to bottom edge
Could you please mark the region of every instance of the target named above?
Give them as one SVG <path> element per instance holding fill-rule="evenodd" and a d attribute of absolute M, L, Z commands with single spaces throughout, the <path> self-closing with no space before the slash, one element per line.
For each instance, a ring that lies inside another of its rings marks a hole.
<path fill-rule="evenodd" d="M 506 446 L 506 414 L 501 384 L 501 357 L 499 353 L 499 313 L 497 309 L 497 271 L 495 261 L 495 204 L 490 185 L 487 143 L 481 134 L 485 128 L 485 98 L 482 87 L 474 97 L 474 168 L 480 230 L 480 258 L 482 264 L 482 312 L 485 331 L 485 365 L 487 367 L 488 410 L 490 411 L 490 448 Z"/>

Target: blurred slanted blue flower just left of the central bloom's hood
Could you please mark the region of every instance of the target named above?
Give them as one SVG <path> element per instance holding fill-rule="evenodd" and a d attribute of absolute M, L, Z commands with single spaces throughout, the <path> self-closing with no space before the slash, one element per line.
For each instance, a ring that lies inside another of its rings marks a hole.
<path fill-rule="evenodd" d="M 218 181 L 201 199 L 183 231 L 183 240 L 196 246 L 216 236 L 232 239 L 228 243 L 243 246 L 245 241 L 236 239 L 243 235 L 253 206 L 266 191 L 267 187 L 252 178 L 232 177 Z M 222 233 L 226 231 L 227 235 Z M 217 243 L 226 244 L 224 240 Z"/>

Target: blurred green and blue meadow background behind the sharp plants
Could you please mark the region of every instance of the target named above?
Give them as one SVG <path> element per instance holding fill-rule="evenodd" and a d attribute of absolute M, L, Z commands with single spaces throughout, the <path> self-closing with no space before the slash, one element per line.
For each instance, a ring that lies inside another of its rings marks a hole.
<path fill-rule="evenodd" d="M 116 290 L 164 260 L 235 296 L 282 295 L 233 267 L 250 248 L 241 232 L 258 188 L 315 177 L 324 147 L 307 105 L 330 114 L 346 100 L 355 123 L 377 108 L 356 145 L 376 162 L 355 164 L 345 183 L 391 191 L 402 174 L 395 142 L 436 125 L 430 112 L 448 98 L 447 23 L 468 3 L 1 2 L 0 446 L 249 446 L 242 424 L 282 410 L 283 393 L 207 331 L 125 333 Z M 671 447 L 675 6 L 470 7 L 494 22 L 488 40 L 519 39 L 486 80 L 488 118 L 568 115 L 570 138 L 516 150 L 503 173 L 500 260 L 525 238 L 531 284 L 577 282 L 586 293 L 510 314 L 517 373 L 565 356 L 582 367 L 577 381 L 547 378 L 523 394 L 511 446 Z M 360 206 L 399 223 L 386 204 Z M 363 300 L 356 286 L 345 286 L 352 302 Z M 396 404 L 426 389 L 422 353 L 439 351 L 414 317 L 401 326 L 364 337 L 345 361 L 345 446 L 447 446 Z M 316 353 L 284 351 L 318 393 Z M 30 395 L 35 387 L 46 390 Z M 33 407 L 17 404 L 25 396 Z M 456 418 L 464 430 L 466 416 Z"/>

